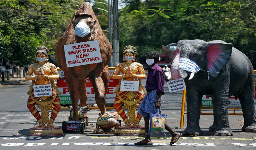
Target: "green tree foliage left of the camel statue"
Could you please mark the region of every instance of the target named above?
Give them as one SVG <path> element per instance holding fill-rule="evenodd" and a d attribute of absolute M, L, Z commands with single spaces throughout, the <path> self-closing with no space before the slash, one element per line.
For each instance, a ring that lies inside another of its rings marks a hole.
<path fill-rule="evenodd" d="M 51 49 L 77 8 L 75 0 L 1 0 L 0 57 L 11 64 L 31 64 L 40 45 L 54 54 Z"/>

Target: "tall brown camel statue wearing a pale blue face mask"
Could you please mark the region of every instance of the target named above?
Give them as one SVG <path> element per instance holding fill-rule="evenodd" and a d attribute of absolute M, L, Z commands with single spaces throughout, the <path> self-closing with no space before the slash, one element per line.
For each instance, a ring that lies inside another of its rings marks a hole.
<path fill-rule="evenodd" d="M 80 26 L 80 28 L 75 28 L 76 26 Z M 93 40 L 98 40 L 99 42 L 102 62 L 67 67 L 64 45 Z M 58 67 L 65 74 L 73 112 L 78 112 L 78 98 L 80 99 L 80 106 L 86 106 L 86 100 L 88 98 L 86 94 L 86 78 L 89 78 L 95 91 L 96 104 L 101 113 L 104 114 L 106 112 L 105 96 L 109 84 L 108 63 L 112 56 L 112 47 L 104 35 L 89 2 L 85 2 L 74 13 L 72 21 L 57 43 L 55 55 Z M 73 114 L 73 120 L 78 120 L 77 113 Z"/>

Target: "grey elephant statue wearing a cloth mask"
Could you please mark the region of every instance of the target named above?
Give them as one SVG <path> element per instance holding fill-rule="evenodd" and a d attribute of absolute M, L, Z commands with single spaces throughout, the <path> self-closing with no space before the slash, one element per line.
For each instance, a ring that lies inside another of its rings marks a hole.
<path fill-rule="evenodd" d="M 184 78 L 187 89 L 187 128 L 183 135 L 203 135 L 199 127 L 203 95 L 212 98 L 214 136 L 233 136 L 228 122 L 228 97 L 239 97 L 243 132 L 256 132 L 254 69 L 245 54 L 221 40 L 180 40 L 163 51 L 172 60 L 169 78 Z"/>

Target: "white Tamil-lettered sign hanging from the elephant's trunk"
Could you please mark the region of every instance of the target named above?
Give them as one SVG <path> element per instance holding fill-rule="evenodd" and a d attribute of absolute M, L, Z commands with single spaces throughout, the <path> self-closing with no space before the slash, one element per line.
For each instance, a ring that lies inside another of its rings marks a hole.
<path fill-rule="evenodd" d="M 171 81 L 167 82 L 167 85 L 168 85 L 170 93 L 186 89 L 183 78 L 176 79 L 176 80 L 171 80 Z"/>

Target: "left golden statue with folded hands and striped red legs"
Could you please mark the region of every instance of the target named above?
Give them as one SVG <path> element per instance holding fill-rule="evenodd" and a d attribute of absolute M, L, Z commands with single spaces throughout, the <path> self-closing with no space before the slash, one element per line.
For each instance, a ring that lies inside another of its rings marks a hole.
<path fill-rule="evenodd" d="M 45 46 L 39 46 L 36 48 L 36 60 L 35 63 L 30 65 L 26 73 L 25 79 L 32 80 L 30 90 L 27 92 L 29 95 L 27 107 L 29 111 L 34 115 L 39 125 L 35 128 L 59 128 L 53 125 L 55 118 L 61 108 L 61 102 L 59 101 L 57 86 L 54 84 L 53 79 L 58 79 L 59 74 L 56 66 L 51 64 L 48 59 L 48 49 Z M 35 76 L 32 76 L 34 72 Z M 51 85 L 52 95 L 51 96 L 40 96 L 34 95 L 33 85 Z M 38 108 L 42 110 L 41 115 L 36 109 L 36 103 L 39 104 Z M 48 109 L 51 108 L 50 104 L 53 104 L 50 119 Z M 47 125 L 45 125 L 47 124 Z M 57 130 L 57 129 L 56 129 Z M 60 132 L 60 131 L 59 131 Z M 63 133 L 62 133 L 63 134 Z"/>

